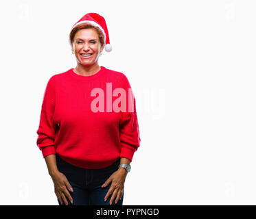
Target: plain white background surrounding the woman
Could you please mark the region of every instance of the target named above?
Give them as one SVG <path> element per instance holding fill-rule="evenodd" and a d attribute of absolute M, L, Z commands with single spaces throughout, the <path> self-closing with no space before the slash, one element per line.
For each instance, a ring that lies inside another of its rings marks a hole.
<path fill-rule="evenodd" d="M 255 1 L 1 1 L 1 205 L 58 205 L 36 145 L 48 79 L 76 66 L 84 14 L 106 19 L 141 146 L 124 205 L 255 205 Z"/>

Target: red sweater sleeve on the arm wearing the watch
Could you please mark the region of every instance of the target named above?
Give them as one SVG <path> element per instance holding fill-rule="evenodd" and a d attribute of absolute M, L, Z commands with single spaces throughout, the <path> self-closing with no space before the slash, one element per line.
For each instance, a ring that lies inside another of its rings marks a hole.
<path fill-rule="evenodd" d="M 119 123 L 121 144 L 120 157 L 126 157 L 132 161 L 135 151 L 137 151 L 140 146 L 141 138 L 139 136 L 135 96 L 132 93 L 132 88 L 127 77 L 125 77 L 125 81 L 126 92 L 128 92 L 128 95 L 126 95 L 127 110 L 126 112 L 121 112 L 121 121 Z"/>

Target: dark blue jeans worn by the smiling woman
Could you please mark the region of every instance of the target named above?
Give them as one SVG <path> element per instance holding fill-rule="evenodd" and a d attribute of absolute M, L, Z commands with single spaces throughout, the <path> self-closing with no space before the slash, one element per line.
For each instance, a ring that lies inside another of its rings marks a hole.
<path fill-rule="evenodd" d="M 73 198 L 73 205 L 110 205 L 109 202 L 112 194 L 108 196 L 106 202 L 104 201 L 104 197 L 111 183 L 105 188 L 102 188 L 102 184 L 113 172 L 118 170 L 120 158 L 117 159 L 114 164 L 101 169 L 86 169 L 73 166 L 61 159 L 58 154 L 56 154 L 56 163 L 58 170 L 67 177 L 67 180 L 73 188 L 73 192 L 69 192 Z M 124 193 L 117 204 L 115 204 L 114 199 L 112 205 L 122 205 L 123 198 Z M 72 205 L 69 198 L 67 198 L 67 201 L 69 205 Z M 61 205 L 59 200 L 58 203 Z M 65 203 L 63 202 L 62 205 L 65 205 Z"/>

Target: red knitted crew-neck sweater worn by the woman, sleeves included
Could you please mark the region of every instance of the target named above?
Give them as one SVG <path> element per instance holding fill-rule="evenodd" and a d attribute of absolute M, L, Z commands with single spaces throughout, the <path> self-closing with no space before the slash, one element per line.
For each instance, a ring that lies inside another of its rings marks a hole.
<path fill-rule="evenodd" d="M 132 160 L 141 139 L 135 97 L 124 75 L 101 66 L 94 75 L 51 76 L 43 96 L 36 144 L 82 168 Z"/>

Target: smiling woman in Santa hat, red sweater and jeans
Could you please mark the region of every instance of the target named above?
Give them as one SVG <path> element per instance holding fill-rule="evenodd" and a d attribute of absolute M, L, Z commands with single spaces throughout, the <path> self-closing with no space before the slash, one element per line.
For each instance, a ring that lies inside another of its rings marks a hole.
<path fill-rule="evenodd" d="M 59 205 L 122 205 L 141 142 L 135 97 L 124 73 L 98 64 L 112 50 L 104 17 L 85 14 L 69 42 L 77 66 L 50 77 L 36 144 Z"/>

